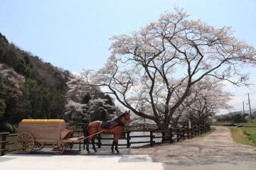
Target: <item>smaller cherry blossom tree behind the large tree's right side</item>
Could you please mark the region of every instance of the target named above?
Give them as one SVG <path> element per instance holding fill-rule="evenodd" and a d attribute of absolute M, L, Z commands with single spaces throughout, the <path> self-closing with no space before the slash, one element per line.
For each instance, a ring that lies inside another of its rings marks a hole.
<path fill-rule="evenodd" d="M 228 104 L 233 94 L 223 91 L 223 82 L 219 79 L 203 79 L 201 82 L 191 87 L 191 94 L 183 101 L 178 108 L 178 113 L 174 114 L 172 123 L 178 121 L 187 123 L 204 124 L 210 123 L 220 109 L 230 109 Z"/>

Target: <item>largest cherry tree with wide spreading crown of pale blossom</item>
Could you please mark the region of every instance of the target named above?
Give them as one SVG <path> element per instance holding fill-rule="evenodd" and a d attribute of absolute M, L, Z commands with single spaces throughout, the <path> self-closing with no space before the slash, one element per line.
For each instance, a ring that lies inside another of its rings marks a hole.
<path fill-rule="evenodd" d="M 163 130 L 203 78 L 240 86 L 248 80 L 241 70 L 256 64 L 255 48 L 234 38 L 229 27 L 189 20 L 180 10 L 130 35 L 114 36 L 110 50 L 105 67 L 83 77 Z"/>

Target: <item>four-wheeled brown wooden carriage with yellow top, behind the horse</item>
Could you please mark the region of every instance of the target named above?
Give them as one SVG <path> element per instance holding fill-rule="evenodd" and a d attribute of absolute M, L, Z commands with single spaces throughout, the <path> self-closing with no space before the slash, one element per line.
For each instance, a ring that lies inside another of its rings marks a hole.
<path fill-rule="evenodd" d="M 72 149 L 73 142 L 83 138 L 71 137 L 72 135 L 73 131 L 66 128 L 64 120 L 25 119 L 18 124 L 16 151 L 27 154 L 43 149 L 46 142 L 53 142 L 52 151 L 55 154 L 62 154 L 65 149 Z"/>

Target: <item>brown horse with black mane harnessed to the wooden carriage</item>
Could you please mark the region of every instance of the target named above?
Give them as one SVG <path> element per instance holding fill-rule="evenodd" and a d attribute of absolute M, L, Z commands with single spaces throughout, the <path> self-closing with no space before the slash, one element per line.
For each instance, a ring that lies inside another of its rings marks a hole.
<path fill-rule="evenodd" d="M 102 131 L 102 133 L 105 133 L 105 134 L 114 134 L 114 139 L 112 142 L 111 149 L 112 149 L 112 152 L 114 152 L 114 145 L 115 145 L 115 150 L 117 151 L 117 153 L 119 153 L 119 150 L 118 150 L 119 137 L 121 135 L 122 130 L 124 129 L 125 123 L 130 123 L 130 122 L 131 122 L 130 111 L 129 112 L 126 111 L 125 113 L 120 114 L 117 118 L 115 118 L 111 122 L 94 121 L 86 124 L 83 127 L 83 133 L 85 137 L 87 137 L 85 138 L 87 152 L 90 153 L 90 150 L 89 150 L 90 141 L 92 141 L 92 148 L 95 150 L 95 152 L 97 152 L 95 148 L 95 138 L 97 137 L 97 135 L 94 135 L 94 134 Z"/>

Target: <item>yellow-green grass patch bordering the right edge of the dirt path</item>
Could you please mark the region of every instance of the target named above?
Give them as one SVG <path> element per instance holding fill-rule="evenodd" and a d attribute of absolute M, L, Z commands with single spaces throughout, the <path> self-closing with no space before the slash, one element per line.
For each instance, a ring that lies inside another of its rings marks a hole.
<path fill-rule="evenodd" d="M 244 130 L 245 128 L 230 127 L 231 137 L 235 142 L 256 147 L 256 143 L 250 139 L 249 135 L 245 135 Z"/>

